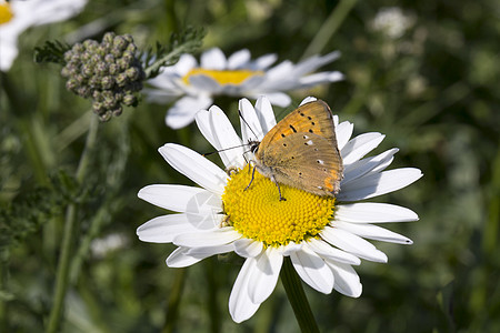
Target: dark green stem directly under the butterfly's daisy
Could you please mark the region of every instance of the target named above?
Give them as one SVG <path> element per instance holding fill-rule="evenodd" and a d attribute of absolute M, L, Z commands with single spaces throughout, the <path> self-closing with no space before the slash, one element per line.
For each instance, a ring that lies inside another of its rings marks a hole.
<path fill-rule="evenodd" d="M 318 324 L 302 287 L 302 281 L 297 275 L 289 256 L 284 258 L 280 278 L 302 333 L 319 333 Z"/>

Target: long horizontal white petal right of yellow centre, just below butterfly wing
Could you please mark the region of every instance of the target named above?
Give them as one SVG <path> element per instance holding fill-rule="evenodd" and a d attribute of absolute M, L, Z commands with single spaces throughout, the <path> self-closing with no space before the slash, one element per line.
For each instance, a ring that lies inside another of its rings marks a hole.
<path fill-rule="evenodd" d="M 336 220 L 356 223 L 408 222 L 418 219 L 413 211 L 388 203 L 339 204 L 336 211 Z"/>

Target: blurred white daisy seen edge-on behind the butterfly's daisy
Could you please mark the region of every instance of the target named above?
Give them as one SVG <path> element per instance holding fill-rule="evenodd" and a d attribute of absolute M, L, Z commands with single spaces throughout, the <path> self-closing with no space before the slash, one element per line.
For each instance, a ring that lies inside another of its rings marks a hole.
<path fill-rule="evenodd" d="M 168 103 L 177 100 L 167 113 L 167 125 L 180 129 L 194 120 L 197 111 L 213 103 L 214 95 L 247 97 L 267 95 L 272 104 L 288 107 L 291 99 L 283 91 L 336 82 L 343 79 L 338 71 L 310 74 L 321 65 L 332 62 L 340 52 L 313 56 L 293 64 L 286 60 L 270 68 L 276 54 L 254 60 L 247 49 L 226 58 L 220 49 L 201 54 L 200 63 L 191 54 L 182 54 L 174 65 L 148 81 L 153 89 L 146 89 L 150 102 Z"/>

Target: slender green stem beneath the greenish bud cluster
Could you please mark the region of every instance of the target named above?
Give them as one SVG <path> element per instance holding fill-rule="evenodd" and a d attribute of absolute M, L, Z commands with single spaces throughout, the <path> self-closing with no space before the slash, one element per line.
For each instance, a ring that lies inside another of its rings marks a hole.
<path fill-rule="evenodd" d="M 83 152 L 80 157 L 80 162 L 78 164 L 76 179 L 79 183 L 82 183 L 87 170 L 89 169 L 89 160 L 90 154 L 93 151 L 93 147 L 97 141 L 97 132 L 99 127 L 99 119 L 97 117 L 92 117 L 92 120 L 89 124 L 89 132 L 87 133 L 87 141 Z M 62 310 L 64 305 L 66 292 L 68 290 L 68 281 L 69 281 L 69 268 L 71 260 L 71 250 L 74 243 L 74 222 L 77 216 L 77 203 L 70 203 L 66 210 L 66 221 L 64 221 L 64 230 L 62 234 L 61 242 L 61 254 L 58 263 L 58 272 L 56 276 L 56 290 L 53 295 L 53 305 L 50 311 L 49 324 L 47 326 L 47 332 L 56 333 L 59 330 L 59 325 L 61 322 Z"/>

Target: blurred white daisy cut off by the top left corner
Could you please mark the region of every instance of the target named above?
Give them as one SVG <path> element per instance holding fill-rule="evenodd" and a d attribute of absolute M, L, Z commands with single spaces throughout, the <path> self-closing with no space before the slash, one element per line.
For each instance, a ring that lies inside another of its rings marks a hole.
<path fill-rule="evenodd" d="M 67 20 L 88 0 L 0 0 L 0 70 L 7 72 L 18 56 L 18 37 L 28 28 Z"/>

